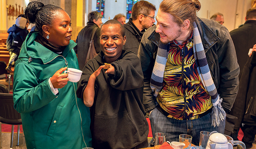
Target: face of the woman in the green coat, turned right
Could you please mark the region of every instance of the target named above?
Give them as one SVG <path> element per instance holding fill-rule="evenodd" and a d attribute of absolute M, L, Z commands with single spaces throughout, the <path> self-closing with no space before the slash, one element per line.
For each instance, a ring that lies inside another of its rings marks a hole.
<path fill-rule="evenodd" d="M 71 40 L 72 36 L 72 28 L 71 19 L 67 12 L 64 10 L 57 11 L 55 18 L 52 20 L 52 24 L 43 25 L 43 28 L 45 27 L 47 27 L 47 29 L 43 30 L 49 34 L 48 41 L 53 46 L 59 48 L 60 46 L 67 46 L 69 44 L 69 40 Z"/>

